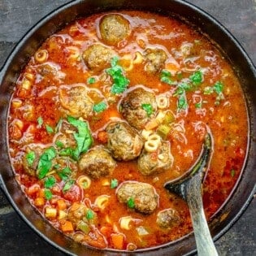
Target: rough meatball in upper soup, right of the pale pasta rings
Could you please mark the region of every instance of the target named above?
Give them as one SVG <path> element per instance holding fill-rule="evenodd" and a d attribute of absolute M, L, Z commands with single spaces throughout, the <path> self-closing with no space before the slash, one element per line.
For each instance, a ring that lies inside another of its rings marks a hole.
<path fill-rule="evenodd" d="M 146 49 L 145 50 L 145 71 L 155 74 L 164 68 L 167 60 L 167 54 L 162 49 Z"/>

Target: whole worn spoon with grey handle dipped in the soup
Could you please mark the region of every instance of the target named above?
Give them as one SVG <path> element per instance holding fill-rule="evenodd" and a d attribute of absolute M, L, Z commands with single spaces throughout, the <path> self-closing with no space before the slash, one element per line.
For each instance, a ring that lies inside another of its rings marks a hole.
<path fill-rule="evenodd" d="M 202 180 L 209 163 L 211 146 L 212 138 L 207 133 L 201 154 L 193 167 L 181 178 L 164 184 L 165 189 L 182 197 L 189 206 L 199 256 L 218 256 L 202 206 Z"/>

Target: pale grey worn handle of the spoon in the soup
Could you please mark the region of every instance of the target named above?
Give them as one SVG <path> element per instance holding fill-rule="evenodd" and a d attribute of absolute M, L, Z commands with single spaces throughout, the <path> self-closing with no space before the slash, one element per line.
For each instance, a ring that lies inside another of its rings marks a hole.
<path fill-rule="evenodd" d="M 187 191 L 187 203 L 193 222 L 193 231 L 197 243 L 198 256 L 218 256 L 215 244 L 210 236 L 210 230 L 206 222 L 206 215 L 202 206 L 201 178 L 189 180 Z"/>

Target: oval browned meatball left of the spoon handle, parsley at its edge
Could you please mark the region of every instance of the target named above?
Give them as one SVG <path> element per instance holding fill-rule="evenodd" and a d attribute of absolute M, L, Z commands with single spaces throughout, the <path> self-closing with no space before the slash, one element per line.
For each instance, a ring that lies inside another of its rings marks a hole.
<path fill-rule="evenodd" d="M 134 202 L 134 209 L 143 213 L 151 214 L 158 206 L 158 194 L 154 187 L 147 183 L 126 181 L 119 185 L 116 192 L 119 202 Z"/>

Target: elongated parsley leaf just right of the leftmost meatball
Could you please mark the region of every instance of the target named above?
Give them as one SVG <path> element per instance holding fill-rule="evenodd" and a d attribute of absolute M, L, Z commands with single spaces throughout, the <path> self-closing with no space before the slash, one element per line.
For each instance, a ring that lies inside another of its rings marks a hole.
<path fill-rule="evenodd" d="M 56 151 L 53 146 L 46 149 L 39 159 L 39 163 L 37 166 L 38 170 L 38 178 L 42 179 L 46 176 L 47 172 L 50 171 L 51 168 L 51 160 L 55 158 Z"/>

